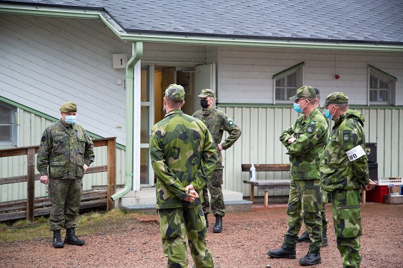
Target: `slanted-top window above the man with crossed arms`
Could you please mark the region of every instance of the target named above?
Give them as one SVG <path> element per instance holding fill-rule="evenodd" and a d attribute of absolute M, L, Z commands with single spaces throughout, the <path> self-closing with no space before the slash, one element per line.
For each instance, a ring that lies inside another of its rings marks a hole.
<path fill-rule="evenodd" d="M 304 62 L 273 76 L 274 103 L 289 103 L 289 98 L 294 96 L 297 88 L 302 86 L 302 66 Z"/>

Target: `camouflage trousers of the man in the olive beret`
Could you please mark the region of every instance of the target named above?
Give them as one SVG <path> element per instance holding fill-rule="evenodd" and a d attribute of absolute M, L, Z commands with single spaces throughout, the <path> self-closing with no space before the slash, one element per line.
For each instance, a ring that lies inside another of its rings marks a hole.
<path fill-rule="evenodd" d="M 50 230 L 76 228 L 76 217 L 79 214 L 83 180 L 50 179 L 49 196 L 51 214 Z"/>

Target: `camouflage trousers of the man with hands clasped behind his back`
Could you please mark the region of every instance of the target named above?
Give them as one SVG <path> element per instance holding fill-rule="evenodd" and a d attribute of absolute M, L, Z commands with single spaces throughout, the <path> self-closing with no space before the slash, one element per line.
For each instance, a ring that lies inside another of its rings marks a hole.
<path fill-rule="evenodd" d="M 206 220 L 201 205 L 158 210 L 166 267 L 187 268 L 186 235 L 191 257 L 196 267 L 214 267 L 212 254 L 207 249 Z"/>

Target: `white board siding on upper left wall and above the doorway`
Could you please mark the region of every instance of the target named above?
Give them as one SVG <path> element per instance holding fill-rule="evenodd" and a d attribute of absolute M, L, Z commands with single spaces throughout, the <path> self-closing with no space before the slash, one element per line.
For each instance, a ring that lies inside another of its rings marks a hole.
<path fill-rule="evenodd" d="M 126 89 L 116 84 L 125 70 L 112 68 L 114 53 L 130 58 L 131 43 L 100 20 L 0 14 L 0 95 L 55 118 L 74 101 L 86 130 L 125 145 Z M 142 61 L 195 66 L 205 57 L 204 46 L 145 43 Z"/>

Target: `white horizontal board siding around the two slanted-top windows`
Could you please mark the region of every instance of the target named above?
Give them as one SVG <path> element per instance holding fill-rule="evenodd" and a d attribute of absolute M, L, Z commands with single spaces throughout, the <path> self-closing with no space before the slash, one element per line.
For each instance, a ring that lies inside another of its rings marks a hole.
<path fill-rule="evenodd" d="M 220 103 L 273 103 L 273 75 L 304 61 L 303 84 L 322 96 L 342 91 L 351 104 L 367 105 L 370 64 L 397 77 L 403 105 L 403 53 L 220 47 L 218 57 Z"/>

